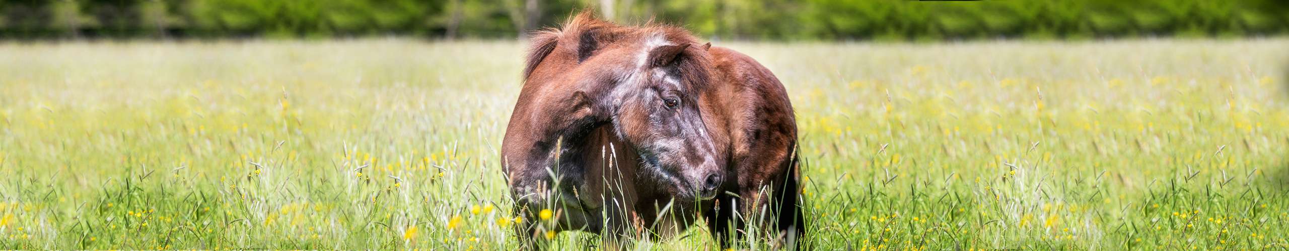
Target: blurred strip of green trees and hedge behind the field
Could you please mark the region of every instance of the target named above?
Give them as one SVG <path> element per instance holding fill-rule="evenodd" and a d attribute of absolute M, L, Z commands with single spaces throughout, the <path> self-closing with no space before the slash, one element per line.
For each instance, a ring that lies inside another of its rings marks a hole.
<path fill-rule="evenodd" d="M 512 39 L 580 9 L 714 40 L 1270 36 L 1279 0 L 0 0 L 0 39 Z"/>

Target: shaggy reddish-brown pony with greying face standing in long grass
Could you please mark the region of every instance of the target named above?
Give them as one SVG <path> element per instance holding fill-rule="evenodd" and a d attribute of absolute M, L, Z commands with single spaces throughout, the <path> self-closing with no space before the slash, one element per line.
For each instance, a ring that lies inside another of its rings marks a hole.
<path fill-rule="evenodd" d="M 746 219 L 800 239 L 797 125 L 770 70 L 679 27 L 588 12 L 531 37 L 501 144 L 522 243 L 665 237 L 697 216 L 722 247 Z"/>

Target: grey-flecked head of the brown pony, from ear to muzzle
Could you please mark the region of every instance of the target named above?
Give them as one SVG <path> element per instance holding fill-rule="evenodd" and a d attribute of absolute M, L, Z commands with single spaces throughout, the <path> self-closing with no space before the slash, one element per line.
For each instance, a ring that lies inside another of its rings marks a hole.
<path fill-rule="evenodd" d="M 617 72 L 617 85 L 610 90 L 615 134 L 633 144 L 641 156 L 641 175 L 670 183 L 664 188 L 682 197 L 696 197 L 708 175 L 715 172 L 715 145 L 699 111 L 697 95 L 670 67 L 650 64 L 650 53 L 674 45 L 661 35 L 643 39 L 635 60 Z M 634 48 L 633 48 L 634 49 Z M 679 99 L 679 106 L 664 106 L 664 98 Z"/>

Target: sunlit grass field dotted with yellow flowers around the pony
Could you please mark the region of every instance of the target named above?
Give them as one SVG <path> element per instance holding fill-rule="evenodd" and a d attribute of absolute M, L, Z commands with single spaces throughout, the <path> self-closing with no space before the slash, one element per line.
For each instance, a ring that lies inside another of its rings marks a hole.
<path fill-rule="evenodd" d="M 1284 250 L 1286 42 L 714 44 L 786 85 L 820 250 Z M 0 55 L 0 248 L 516 245 L 518 42 Z"/>

